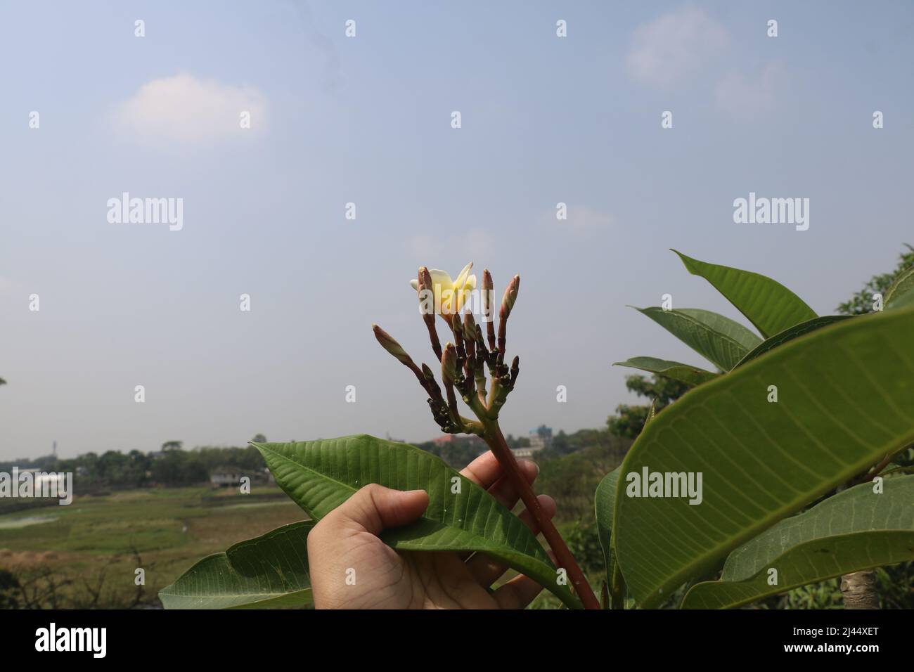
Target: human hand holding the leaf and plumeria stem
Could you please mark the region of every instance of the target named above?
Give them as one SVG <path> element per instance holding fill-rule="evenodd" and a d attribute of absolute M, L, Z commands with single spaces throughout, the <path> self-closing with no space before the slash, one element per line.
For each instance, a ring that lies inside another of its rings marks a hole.
<path fill-rule="evenodd" d="M 528 483 L 536 464 L 519 460 Z M 512 508 L 519 494 L 503 477 L 493 453 L 484 453 L 461 472 Z M 556 513 L 552 497 L 537 497 L 543 514 Z M 445 551 L 396 551 L 378 535 L 406 525 L 429 506 L 424 490 L 401 492 L 377 484 L 355 495 L 321 519 L 308 535 L 308 564 L 317 609 L 523 609 L 542 590 L 526 576 L 516 576 L 494 592 L 486 589 L 505 573 L 505 565 L 482 554 Z M 521 520 L 536 535 L 528 511 Z M 355 571 L 355 582 L 346 578 Z"/>

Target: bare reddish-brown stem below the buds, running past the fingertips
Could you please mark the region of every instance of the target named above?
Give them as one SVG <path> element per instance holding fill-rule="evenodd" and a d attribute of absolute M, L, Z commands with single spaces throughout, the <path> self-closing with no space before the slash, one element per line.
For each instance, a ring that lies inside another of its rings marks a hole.
<path fill-rule="evenodd" d="M 569 547 L 565 544 L 565 540 L 558 534 L 558 529 L 552 524 L 552 520 L 545 515 L 542 507 L 539 506 L 539 501 L 537 500 L 537 495 L 533 492 L 533 488 L 530 487 L 530 484 L 527 483 L 524 475 L 521 474 L 520 466 L 515 460 L 514 453 L 508 448 L 505 436 L 502 434 L 497 422 L 484 421 L 484 427 L 485 433 L 483 438 L 485 439 L 485 443 L 489 444 L 489 447 L 498 459 L 498 464 L 502 465 L 502 469 L 505 470 L 505 475 L 507 475 L 517 488 L 517 492 L 520 493 L 521 501 L 524 502 L 526 510 L 529 511 L 537 521 L 537 525 L 549 544 L 549 548 L 552 549 L 552 552 L 556 555 L 558 566 L 564 568 L 565 571 L 568 572 L 571 585 L 574 586 L 575 592 L 578 593 L 580 601 L 584 603 L 584 608 L 600 609 L 600 602 L 590 589 L 590 583 L 588 583 L 587 579 L 584 577 L 584 572 L 580 571 L 578 563 L 575 561 L 574 556 L 571 555 Z"/>

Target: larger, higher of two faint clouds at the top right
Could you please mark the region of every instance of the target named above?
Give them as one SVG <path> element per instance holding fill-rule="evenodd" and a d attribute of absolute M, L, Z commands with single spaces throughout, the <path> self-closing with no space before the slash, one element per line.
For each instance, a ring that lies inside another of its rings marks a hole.
<path fill-rule="evenodd" d="M 634 79 L 666 87 L 695 74 L 728 41 L 727 28 L 703 9 L 684 7 L 635 28 L 626 65 Z"/>

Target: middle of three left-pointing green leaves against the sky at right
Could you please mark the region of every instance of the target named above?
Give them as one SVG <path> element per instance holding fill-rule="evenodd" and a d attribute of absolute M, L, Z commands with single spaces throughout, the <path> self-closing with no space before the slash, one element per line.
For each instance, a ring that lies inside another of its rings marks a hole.
<path fill-rule="evenodd" d="M 739 322 L 708 310 L 664 310 L 656 306 L 635 310 L 650 317 L 686 346 L 725 371 L 735 367 L 740 359 L 749 354 L 749 350 L 761 343 L 759 336 Z"/>

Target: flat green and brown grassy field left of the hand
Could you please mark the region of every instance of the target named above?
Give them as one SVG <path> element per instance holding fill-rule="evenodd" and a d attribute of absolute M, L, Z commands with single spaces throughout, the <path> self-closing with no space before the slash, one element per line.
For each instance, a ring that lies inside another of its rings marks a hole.
<path fill-rule="evenodd" d="M 34 581 L 35 600 L 45 606 L 153 604 L 200 558 L 305 517 L 267 485 L 250 495 L 199 486 L 77 496 L 66 507 L 0 515 L 0 569 Z M 140 567 L 143 587 L 134 583 Z"/>

